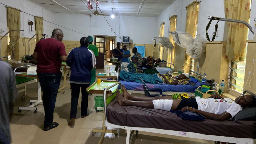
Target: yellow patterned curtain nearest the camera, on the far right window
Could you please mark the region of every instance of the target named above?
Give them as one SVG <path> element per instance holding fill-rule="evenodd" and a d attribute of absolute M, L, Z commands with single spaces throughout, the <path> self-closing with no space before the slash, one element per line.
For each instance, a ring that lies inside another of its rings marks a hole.
<path fill-rule="evenodd" d="M 225 17 L 249 22 L 251 0 L 224 0 Z M 242 23 L 228 22 L 226 59 L 244 61 L 248 28 Z"/>

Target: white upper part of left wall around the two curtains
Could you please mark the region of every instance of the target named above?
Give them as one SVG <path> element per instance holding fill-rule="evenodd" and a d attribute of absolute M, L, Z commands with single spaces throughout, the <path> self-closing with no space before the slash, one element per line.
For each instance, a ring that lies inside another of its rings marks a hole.
<path fill-rule="evenodd" d="M 31 15 L 44 17 L 46 20 L 53 22 L 54 15 L 51 11 L 43 9 L 43 7 L 27 0 L 1 0 L 1 3 L 25 11 Z M 35 25 L 32 26 L 33 31 L 31 32 L 31 28 L 27 24 L 29 20 L 35 24 L 35 18 L 29 14 L 21 12 L 21 30 L 24 30 L 22 33 L 25 34 L 25 37 L 32 37 L 35 34 Z M 50 36 L 53 28 L 53 24 L 44 21 L 44 33 Z M 0 29 L 7 32 L 7 9 L 2 4 L 0 4 Z"/>

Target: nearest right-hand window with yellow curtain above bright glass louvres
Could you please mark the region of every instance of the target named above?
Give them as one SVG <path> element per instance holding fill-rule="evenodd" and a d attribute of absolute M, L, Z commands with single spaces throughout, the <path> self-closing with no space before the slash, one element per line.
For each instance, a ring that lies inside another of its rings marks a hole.
<path fill-rule="evenodd" d="M 225 17 L 250 21 L 251 0 L 224 0 Z M 244 87 L 248 28 L 242 23 L 227 22 L 225 57 L 230 61 L 229 93 L 239 96 Z"/>

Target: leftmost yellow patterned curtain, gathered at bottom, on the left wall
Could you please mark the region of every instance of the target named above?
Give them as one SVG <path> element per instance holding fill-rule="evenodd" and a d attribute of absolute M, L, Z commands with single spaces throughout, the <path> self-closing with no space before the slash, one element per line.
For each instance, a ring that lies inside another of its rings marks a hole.
<path fill-rule="evenodd" d="M 20 10 L 12 7 L 7 7 L 7 26 L 9 30 L 21 30 L 21 14 Z M 11 54 L 14 50 L 15 44 L 18 42 L 20 31 L 11 31 L 9 33 L 10 43 L 7 47 L 7 52 Z M 18 50 L 17 50 L 18 51 Z M 15 54 L 15 53 L 14 53 Z M 18 58 L 18 53 L 14 55 L 15 59 Z"/>

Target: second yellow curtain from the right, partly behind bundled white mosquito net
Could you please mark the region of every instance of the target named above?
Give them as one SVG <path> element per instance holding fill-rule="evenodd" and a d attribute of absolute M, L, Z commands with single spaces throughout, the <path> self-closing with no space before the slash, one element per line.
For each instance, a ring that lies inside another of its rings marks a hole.
<path fill-rule="evenodd" d="M 186 32 L 189 33 L 193 38 L 195 37 L 195 30 L 197 28 L 197 5 L 199 4 L 198 1 L 194 1 L 189 4 L 187 9 L 186 15 Z M 185 58 L 182 64 L 182 70 L 185 70 L 186 73 L 189 72 L 189 69 L 186 69 L 189 66 L 189 55 L 185 52 Z"/>

